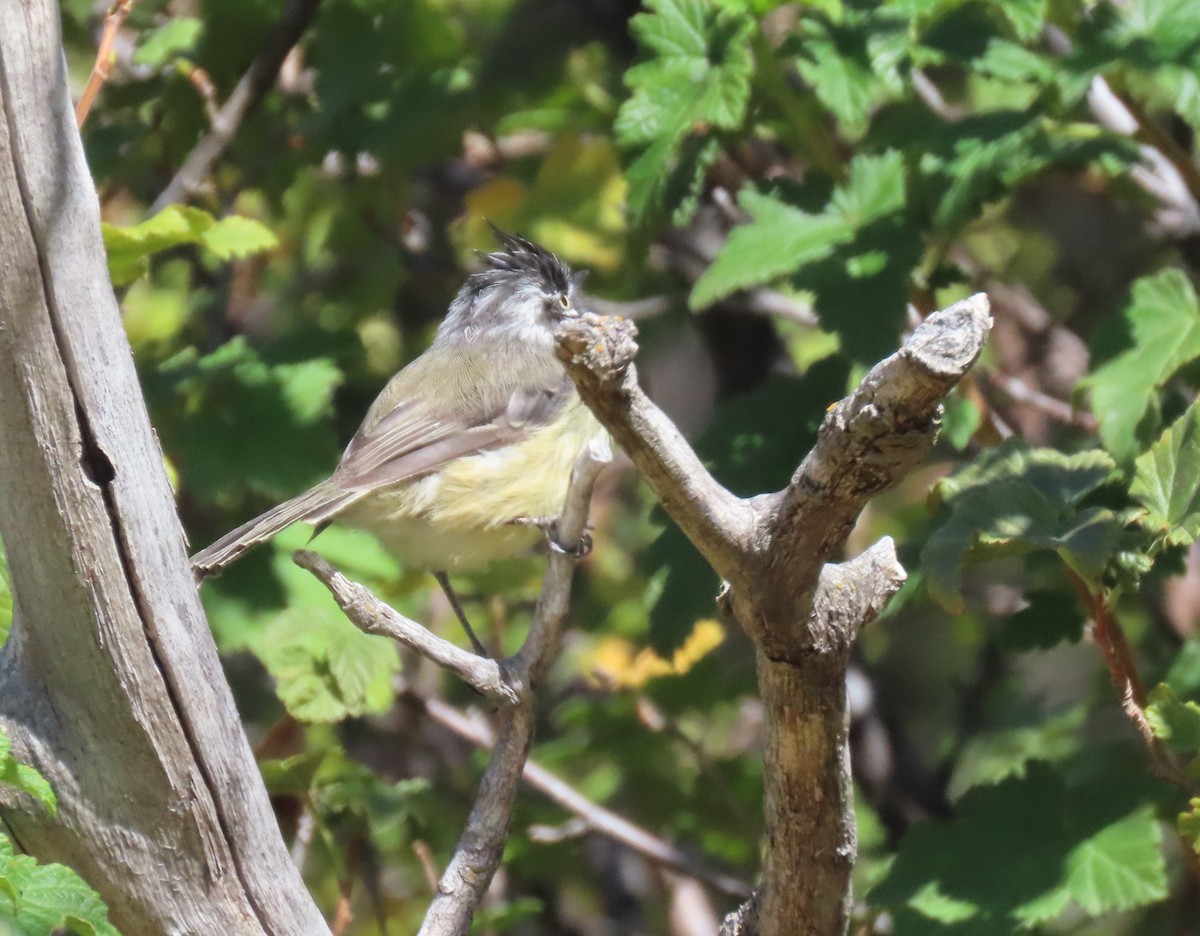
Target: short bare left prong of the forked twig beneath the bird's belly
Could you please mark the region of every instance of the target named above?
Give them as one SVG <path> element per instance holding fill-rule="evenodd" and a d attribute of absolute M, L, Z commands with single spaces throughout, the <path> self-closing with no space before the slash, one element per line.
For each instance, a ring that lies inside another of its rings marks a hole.
<path fill-rule="evenodd" d="M 482 696 L 500 706 L 515 706 L 516 690 L 505 679 L 504 668 L 496 660 L 476 656 L 456 647 L 427 628 L 389 607 L 366 586 L 352 582 L 317 553 L 298 550 L 292 556 L 301 569 L 307 569 L 330 590 L 342 613 L 359 630 L 380 637 L 391 637 L 443 670 L 462 679 Z"/>

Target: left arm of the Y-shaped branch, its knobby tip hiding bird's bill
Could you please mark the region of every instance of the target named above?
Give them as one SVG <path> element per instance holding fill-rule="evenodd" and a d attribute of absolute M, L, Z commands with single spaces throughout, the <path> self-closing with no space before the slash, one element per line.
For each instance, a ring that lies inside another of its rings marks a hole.
<path fill-rule="evenodd" d="M 708 473 L 674 424 L 637 385 L 637 329 L 619 318 L 584 314 L 558 331 L 558 356 L 580 396 L 625 450 L 684 533 L 718 575 L 742 568 L 754 511 Z"/>

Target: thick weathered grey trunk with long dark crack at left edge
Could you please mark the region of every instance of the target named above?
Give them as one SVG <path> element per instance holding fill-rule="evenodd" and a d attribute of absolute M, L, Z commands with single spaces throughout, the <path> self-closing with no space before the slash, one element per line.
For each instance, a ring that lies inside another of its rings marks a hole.
<path fill-rule="evenodd" d="M 59 10 L 0 0 L 0 724 L 19 844 L 138 934 L 328 934 L 221 672 L 104 264 Z"/>

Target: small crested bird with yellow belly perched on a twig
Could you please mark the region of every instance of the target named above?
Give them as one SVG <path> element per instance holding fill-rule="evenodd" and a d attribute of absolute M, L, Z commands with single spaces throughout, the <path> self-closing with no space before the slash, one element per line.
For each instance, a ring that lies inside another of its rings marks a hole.
<path fill-rule="evenodd" d="M 391 378 L 332 475 L 192 557 L 215 575 L 305 521 L 376 534 L 434 574 L 480 649 L 448 572 L 533 546 L 558 515 L 571 468 L 604 430 L 554 356 L 582 280 L 550 251 L 494 229 L 503 250 L 467 277 L 428 349 Z"/>

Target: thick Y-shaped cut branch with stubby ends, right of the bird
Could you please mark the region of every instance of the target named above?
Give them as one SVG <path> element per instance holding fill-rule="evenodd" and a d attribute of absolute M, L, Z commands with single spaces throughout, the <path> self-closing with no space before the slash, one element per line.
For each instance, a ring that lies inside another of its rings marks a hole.
<path fill-rule="evenodd" d="M 726 580 L 725 607 L 755 643 L 767 850 L 760 893 L 730 932 L 846 931 L 857 853 L 846 668 L 859 628 L 900 587 L 904 570 L 887 540 L 850 563 L 827 563 L 866 502 L 928 455 L 941 401 L 990 326 L 983 295 L 931 314 L 829 408 L 791 484 L 751 498 L 721 487 L 642 392 L 631 323 L 583 316 L 559 328 L 559 358 L 580 395 Z"/>

